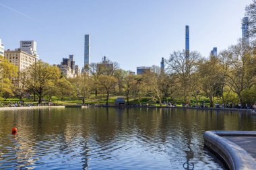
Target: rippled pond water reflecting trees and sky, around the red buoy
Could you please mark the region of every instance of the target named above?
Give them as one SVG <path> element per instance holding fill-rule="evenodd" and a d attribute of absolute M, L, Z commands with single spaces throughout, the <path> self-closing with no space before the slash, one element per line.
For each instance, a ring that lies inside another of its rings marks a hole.
<path fill-rule="evenodd" d="M 256 116 L 164 108 L 1 111 L 0 169 L 224 169 L 203 148 L 205 130 L 256 130 Z"/>

